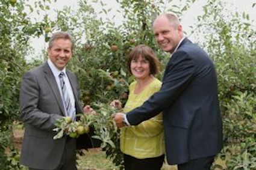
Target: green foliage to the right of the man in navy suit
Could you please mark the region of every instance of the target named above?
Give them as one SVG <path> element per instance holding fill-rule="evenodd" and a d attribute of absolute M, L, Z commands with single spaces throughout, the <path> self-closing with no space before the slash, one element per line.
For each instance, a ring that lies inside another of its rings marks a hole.
<path fill-rule="evenodd" d="M 213 58 L 219 76 L 224 148 L 215 166 L 255 169 L 255 23 L 246 13 L 227 17 L 223 7 L 221 1 L 209 1 L 198 17 L 196 32 L 204 35 L 202 46 Z"/>

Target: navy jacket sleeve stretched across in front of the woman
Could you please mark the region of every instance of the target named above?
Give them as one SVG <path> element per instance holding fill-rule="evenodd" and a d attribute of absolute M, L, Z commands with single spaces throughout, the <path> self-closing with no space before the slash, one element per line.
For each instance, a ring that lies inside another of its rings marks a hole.
<path fill-rule="evenodd" d="M 184 51 L 175 52 L 167 64 L 160 91 L 146 100 L 142 106 L 128 112 L 128 122 L 137 125 L 168 108 L 187 88 L 194 73 L 193 59 Z"/>

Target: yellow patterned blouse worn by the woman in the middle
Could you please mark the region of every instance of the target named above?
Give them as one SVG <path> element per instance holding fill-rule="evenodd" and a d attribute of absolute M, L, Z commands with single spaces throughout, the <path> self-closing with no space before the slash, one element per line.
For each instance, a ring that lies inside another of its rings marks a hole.
<path fill-rule="evenodd" d="M 123 112 L 129 112 L 141 106 L 152 94 L 160 90 L 161 82 L 154 77 L 145 89 L 139 94 L 134 94 L 136 81 L 131 83 L 128 100 Z M 164 154 L 164 134 L 162 114 L 143 121 L 137 126 L 123 127 L 120 135 L 120 149 L 123 153 L 145 159 L 158 157 Z"/>

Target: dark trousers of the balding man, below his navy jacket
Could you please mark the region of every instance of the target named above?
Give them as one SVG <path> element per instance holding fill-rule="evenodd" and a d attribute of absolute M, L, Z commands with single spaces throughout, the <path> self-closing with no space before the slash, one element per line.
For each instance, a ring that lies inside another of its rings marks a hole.
<path fill-rule="evenodd" d="M 214 156 L 192 159 L 189 162 L 179 164 L 178 170 L 210 170 Z"/>

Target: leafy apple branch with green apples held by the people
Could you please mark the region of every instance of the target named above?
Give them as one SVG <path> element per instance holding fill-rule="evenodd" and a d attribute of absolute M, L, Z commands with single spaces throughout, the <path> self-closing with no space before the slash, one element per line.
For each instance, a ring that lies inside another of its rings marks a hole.
<path fill-rule="evenodd" d="M 94 109 L 92 109 L 94 108 Z M 79 121 L 72 121 L 70 117 L 62 117 L 55 123 L 55 132 L 57 135 L 54 139 L 60 139 L 64 135 L 69 135 L 70 138 L 78 138 L 84 133 L 90 132 L 90 127 L 93 127 L 94 134 L 92 138 L 102 141 L 101 148 L 106 148 L 108 145 L 115 148 L 113 138 L 119 138 L 119 129 L 117 129 L 112 115 L 119 112 L 117 108 L 104 103 L 92 103 L 92 108 L 86 106 L 84 114 L 78 114 Z"/>

